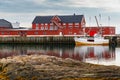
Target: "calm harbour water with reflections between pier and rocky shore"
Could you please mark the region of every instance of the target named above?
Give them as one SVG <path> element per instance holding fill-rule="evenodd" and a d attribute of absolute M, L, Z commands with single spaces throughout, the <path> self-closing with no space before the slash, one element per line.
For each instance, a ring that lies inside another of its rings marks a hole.
<path fill-rule="evenodd" d="M 94 64 L 116 65 L 115 48 L 109 46 L 71 46 L 71 45 L 0 45 L 0 58 L 16 55 L 42 54 Z M 118 57 L 117 57 L 118 58 Z"/>

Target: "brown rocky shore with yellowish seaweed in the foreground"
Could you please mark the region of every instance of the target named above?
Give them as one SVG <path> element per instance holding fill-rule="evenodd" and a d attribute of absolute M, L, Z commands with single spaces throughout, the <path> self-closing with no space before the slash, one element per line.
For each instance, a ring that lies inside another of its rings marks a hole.
<path fill-rule="evenodd" d="M 120 67 L 21 55 L 0 59 L 0 80 L 120 80 Z"/>

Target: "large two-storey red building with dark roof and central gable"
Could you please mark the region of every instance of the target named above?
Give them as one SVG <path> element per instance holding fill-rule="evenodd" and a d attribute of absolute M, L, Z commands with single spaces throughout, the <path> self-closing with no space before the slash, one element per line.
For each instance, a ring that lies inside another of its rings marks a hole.
<path fill-rule="evenodd" d="M 39 30 L 41 35 L 80 35 L 85 24 L 83 15 L 36 16 L 32 29 Z"/>

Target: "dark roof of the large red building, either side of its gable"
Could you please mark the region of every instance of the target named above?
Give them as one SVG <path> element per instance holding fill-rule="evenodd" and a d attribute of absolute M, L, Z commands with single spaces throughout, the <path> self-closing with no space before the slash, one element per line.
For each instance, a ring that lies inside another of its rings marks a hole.
<path fill-rule="evenodd" d="M 54 16 L 36 16 L 33 20 L 34 23 L 50 23 L 51 19 Z M 79 23 L 82 21 L 83 15 L 67 15 L 67 16 L 58 16 L 63 23 Z"/>

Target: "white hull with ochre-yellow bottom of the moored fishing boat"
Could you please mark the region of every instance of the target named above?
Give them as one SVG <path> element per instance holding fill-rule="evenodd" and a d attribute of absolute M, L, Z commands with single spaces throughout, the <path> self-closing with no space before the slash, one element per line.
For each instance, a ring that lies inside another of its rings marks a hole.
<path fill-rule="evenodd" d="M 108 45 L 109 40 L 104 37 L 75 37 L 76 46 L 79 45 Z"/>

